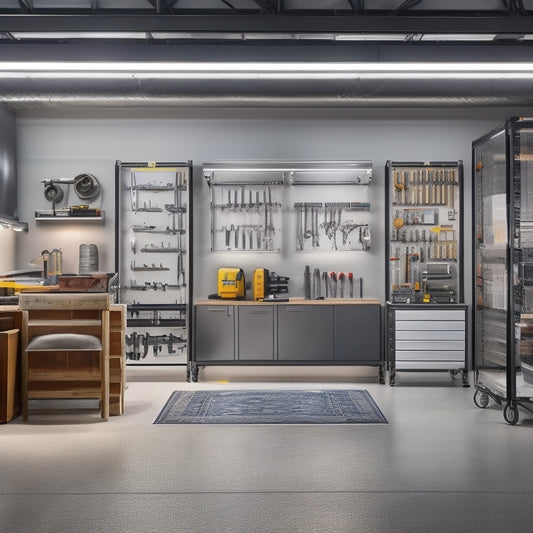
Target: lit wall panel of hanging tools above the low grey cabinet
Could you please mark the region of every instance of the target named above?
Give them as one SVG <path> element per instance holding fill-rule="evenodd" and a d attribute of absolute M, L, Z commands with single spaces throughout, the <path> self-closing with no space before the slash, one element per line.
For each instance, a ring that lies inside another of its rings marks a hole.
<path fill-rule="evenodd" d="M 371 161 L 204 163 L 213 251 L 368 250 Z M 294 187 L 293 187 L 294 186 Z M 317 201 L 319 200 L 319 201 Z"/>

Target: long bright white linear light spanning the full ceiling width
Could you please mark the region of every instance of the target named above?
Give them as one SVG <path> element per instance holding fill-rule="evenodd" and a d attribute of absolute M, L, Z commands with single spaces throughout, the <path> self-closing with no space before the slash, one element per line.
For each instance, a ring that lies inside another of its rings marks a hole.
<path fill-rule="evenodd" d="M 533 62 L 0 61 L 0 79 L 532 79 Z"/>

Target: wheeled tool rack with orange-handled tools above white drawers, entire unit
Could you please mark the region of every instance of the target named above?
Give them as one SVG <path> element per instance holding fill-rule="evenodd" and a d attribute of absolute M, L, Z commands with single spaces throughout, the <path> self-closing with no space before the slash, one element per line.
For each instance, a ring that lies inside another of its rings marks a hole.
<path fill-rule="evenodd" d="M 405 370 L 468 386 L 462 161 L 387 161 L 385 190 L 390 385 Z"/>

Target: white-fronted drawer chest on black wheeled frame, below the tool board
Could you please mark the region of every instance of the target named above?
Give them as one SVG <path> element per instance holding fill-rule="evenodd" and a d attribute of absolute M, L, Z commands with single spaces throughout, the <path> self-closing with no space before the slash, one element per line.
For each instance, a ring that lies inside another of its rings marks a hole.
<path fill-rule="evenodd" d="M 468 386 L 467 306 L 389 304 L 387 355 L 390 384 L 397 371 L 449 371 Z"/>

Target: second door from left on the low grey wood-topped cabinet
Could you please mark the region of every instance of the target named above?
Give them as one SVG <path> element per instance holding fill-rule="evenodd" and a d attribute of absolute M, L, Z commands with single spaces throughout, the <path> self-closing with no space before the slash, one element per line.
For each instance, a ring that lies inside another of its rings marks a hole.
<path fill-rule="evenodd" d="M 240 360 L 274 359 L 274 306 L 239 306 Z"/>

